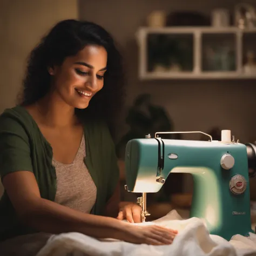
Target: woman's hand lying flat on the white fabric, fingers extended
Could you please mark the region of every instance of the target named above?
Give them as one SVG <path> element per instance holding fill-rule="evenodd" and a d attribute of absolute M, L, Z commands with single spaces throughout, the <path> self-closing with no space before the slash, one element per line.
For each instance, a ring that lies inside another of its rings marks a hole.
<path fill-rule="evenodd" d="M 124 238 L 121 240 L 132 242 L 133 244 L 170 245 L 177 234 L 177 230 L 157 225 L 130 224 L 124 230 Z"/>

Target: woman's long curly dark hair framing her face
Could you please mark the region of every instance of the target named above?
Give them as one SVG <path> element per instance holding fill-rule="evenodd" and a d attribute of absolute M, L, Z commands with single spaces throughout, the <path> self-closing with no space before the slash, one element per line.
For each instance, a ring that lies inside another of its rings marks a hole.
<path fill-rule="evenodd" d="M 49 67 L 60 65 L 68 56 L 76 55 L 86 45 L 103 46 L 107 51 L 104 86 L 91 99 L 86 109 L 76 109 L 79 118 L 104 118 L 113 129 L 114 118 L 124 102 L 123 60 L 113 38 L 102 26 L 92 22 L 67 19 L 57 23 L 32 50 L 23 80 L 19 104 L 30 105 L 50 90 Z"/>

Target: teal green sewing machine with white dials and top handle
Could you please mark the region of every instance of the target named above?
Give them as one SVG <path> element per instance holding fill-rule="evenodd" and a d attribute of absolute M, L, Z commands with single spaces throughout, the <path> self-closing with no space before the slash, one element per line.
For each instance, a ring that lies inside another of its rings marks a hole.
<path fill-rule="evenodd" d="M 203 133 L 208 141 L 163 139 L 159 134 Z M 146 193 L 158 192 L 172 172 L 191 173 L 194 181 L 191 217 L 205 220 L 211 234 L 230 240 L 251 228 L 249 172 L 256 170 L 256 146 L 241 144 L 230 130 L 214 141 L 204 132 L 161 132 L 132 139 L 126 145 L 127 191 L 142 193 L 142 221 L 150 215 Z"/>

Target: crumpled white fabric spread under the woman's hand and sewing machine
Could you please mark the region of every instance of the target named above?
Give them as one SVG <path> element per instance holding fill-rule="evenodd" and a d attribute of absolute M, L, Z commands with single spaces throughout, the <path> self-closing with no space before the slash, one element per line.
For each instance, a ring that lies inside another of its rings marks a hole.
<path fill-rule="evenodd" d="M 183 220 L 173 210 L 165 217 L 152 223 L 134 225 L 154 225 L 177 229 L 179 234 L 172 245 L 135 245 L 123 241 L 104 240 L 88 237 L 80 233 L 53 235 L 36 256 L 252 256 L 256 255 L 256 235 L 250 237 L 235 235 L 227 241 L 217 235 L 210 235 L 202 220 Z"/>

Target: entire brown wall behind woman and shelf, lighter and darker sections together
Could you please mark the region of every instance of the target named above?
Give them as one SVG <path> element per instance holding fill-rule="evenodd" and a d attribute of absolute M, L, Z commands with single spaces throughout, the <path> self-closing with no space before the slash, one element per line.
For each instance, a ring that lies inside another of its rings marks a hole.
<path fill-rule="evenodd" d="M 255 0 L 246 2 L 253 3 Z M 0 1 L 0 112 L 15 104 L 21 86 L 25 58 L 50 26 L 65 18 L 97 22 L 109 30 L 124 48 L 127 61 L 127 105 L 136 95 L 150 92 L 154 102 L 164 105 L 176 130 L 208 130 L 212 125 L 232 129 L 240 140 L 256 139 L 255 82 L 252 81 L 157 81 L 137 78 L 135 32 L 152 10 L 233 9 L 238 0 L 2 0 Z M 79 6 L 79 8 L 78 8 Z M 125 126 L 124 126 L 125 127 Z M 256 186 L 255 186 L 256 187 Z M 0 185 L 1 193 L 1 185 Z"/>

